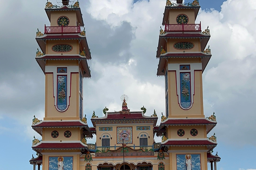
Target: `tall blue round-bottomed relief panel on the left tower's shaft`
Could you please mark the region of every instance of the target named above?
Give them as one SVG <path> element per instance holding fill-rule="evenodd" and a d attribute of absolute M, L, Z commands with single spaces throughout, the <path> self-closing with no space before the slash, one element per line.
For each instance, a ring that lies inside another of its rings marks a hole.
<path fill-rule="evenodd" d="M 57 108 L 63 111 L 67 108 L 67 76 L 57 75 Z"/>

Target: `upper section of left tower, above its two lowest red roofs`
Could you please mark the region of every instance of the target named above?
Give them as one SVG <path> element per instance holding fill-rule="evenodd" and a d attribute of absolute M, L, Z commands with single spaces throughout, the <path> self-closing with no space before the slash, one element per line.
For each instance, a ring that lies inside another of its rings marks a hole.
<path fill-rule="evenodd" d="M 91 77 L 87 59 L 91 54 L 87 44 L 79 3 L 68 6 L 62 0 L 59 8 L 46 3 L 50 27 L 37 36 L 42 53 L 36 61 L 45 73 L 44 120 L 80 120 L 83 116 L 83 78 Z"/>

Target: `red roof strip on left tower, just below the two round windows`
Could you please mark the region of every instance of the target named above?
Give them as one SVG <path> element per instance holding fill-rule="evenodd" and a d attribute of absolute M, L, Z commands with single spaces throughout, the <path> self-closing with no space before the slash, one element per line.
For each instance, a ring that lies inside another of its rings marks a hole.
<path fill-rule="evenodd" d="M 33 149 L 80 149 L 85 147 L 81 143 L 41 143 L 37 146 L 32 146 Z"/>

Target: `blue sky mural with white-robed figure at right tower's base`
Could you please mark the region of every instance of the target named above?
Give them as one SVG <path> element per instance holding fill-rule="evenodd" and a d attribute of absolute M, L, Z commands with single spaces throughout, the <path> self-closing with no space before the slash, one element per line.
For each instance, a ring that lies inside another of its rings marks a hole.
<path fill-rule="evenodd" d="M 176 163 L 177 170 L 201 170 L 200 154 L 176 154 Z"/>

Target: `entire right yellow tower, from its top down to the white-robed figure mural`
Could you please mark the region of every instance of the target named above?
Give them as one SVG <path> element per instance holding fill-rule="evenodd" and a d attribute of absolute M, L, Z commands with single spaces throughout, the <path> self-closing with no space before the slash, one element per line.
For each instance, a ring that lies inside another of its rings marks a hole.
<path fill-rule="evenodd" d="M 166 116 L 161 118 L 159 134 L 172 170 L 207 170 L 211 158 L 215 164 L 220 160 L 210 152 L 217 145 L 215 135 L 207 138 L 216 117 L 205 118 L 203 110 L 202 73 L 212 54 L 206 48 L 210 30 L 202 31 L 201 22 L 195 22 L 199 9 L 198 0 L 187 4 L 167 0 L 164 30 L 160 29 L 157 76 L 165 76 Z"/>

